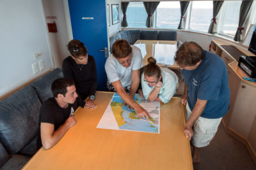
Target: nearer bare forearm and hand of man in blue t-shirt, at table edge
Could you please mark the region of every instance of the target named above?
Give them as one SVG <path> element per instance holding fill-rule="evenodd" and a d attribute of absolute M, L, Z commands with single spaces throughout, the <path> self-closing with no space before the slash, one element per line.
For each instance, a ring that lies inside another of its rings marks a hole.
<path fill-rule="evenodd" d="M 200 117 L 200 115 L 202 115 L 206 104 L 207 104 L 206 100 L 200 100 L 200 99 L 196 100 L 195 107 L 189 117 L 188 122 L 185 124 L 185 127 L 183 129 L 186 138 L 189 138 L 189 140 L 193 136 L 193 131 L 192 131 L 193 124 L 198 119 L 198 117 Z"/>

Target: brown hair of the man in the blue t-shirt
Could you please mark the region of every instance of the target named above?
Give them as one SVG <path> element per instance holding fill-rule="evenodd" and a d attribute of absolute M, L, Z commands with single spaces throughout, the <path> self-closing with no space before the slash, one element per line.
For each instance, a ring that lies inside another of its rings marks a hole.
<path fill-rule="evenodd" d="M 203 48 L 193 41 L 186 41 L 176 52 L 175 61 L 179 66 L 195 66 L 200 60 L 204 60 Z"/>

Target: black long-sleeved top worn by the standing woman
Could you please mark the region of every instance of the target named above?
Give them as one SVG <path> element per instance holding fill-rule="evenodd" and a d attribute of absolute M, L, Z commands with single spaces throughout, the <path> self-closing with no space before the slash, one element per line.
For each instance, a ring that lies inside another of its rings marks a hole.
<path fill-rule="evenodd" d="M 97 71 L 92 55 L 88 55 L 86 65 L 77 64 L 69 56 L 63 60 L 62 70 L 65 78 L 69 78 L 75 82 L 76 90 L 82 99 L 95 94 L 97 89 Z"/>

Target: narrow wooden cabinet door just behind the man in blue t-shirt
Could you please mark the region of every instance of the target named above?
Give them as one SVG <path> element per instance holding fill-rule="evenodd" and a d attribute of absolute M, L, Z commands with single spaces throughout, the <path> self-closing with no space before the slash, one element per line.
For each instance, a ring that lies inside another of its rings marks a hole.
<path fill-rule="evenodd" d="M 225 115 L 225 117 L 223 118 L 227 126 L 230 123 L 230 117 L 232 116 L 232 111 L 234 109 L 235 102 L 236 102 L 237 91 L 240 87 L 241 81 L 233 71 L 229 71 L 228 82 L 229 82 L 229 88 L 230 88 L 230 103 L 229 103 L 229 110 Z"/>

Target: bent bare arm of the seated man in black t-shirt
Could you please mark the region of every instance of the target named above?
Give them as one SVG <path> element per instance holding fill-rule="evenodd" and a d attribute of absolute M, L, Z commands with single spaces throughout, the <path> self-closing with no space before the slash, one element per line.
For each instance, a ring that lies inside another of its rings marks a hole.
<path fill-rule="evenodd" d="M 41 123 L 41 139 L 42 145 L 45 149 L 49 149 L 56 145 L 58 141 L 64 136 L 70 127 L 76 124 L 76 120 L 73 117 L 67 118 L 66 122 L 61 125 L 56 131 L 54 131 L 54 125 L 49 123 Z"/>

